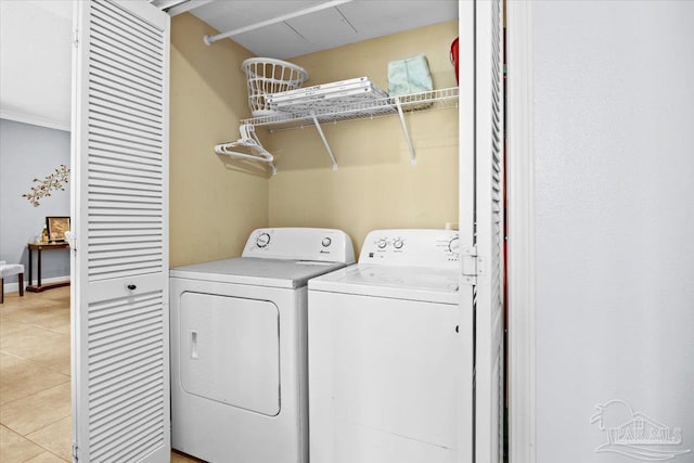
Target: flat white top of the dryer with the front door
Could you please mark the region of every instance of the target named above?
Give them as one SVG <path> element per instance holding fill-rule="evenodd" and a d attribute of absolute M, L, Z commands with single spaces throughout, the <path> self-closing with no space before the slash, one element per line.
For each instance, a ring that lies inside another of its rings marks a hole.
<path fill-rule="evenodd" d="M 178 267 L 169 271 L 172 278 L 237 283 L 255 286 L 306 286 L 309 279 L 345 267 L 342 262 L 312 260 L 284 260 L 255 257 L 235 257 Z"/>

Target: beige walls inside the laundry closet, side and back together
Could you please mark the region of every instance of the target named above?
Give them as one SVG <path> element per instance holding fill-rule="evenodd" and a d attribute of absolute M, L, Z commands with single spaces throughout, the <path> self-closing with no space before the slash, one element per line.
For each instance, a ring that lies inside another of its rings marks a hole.
<path fill-rule="evenodd" d="M 249 117 L 241 63 L 250 53 L 190 14 L 171 24 L 171 267 L 237 256 L 257 227 L 345 230 L 356 252 L 377 228 L 442 228 L 458 222 L 458 111 L 406 114 L 417 162 L 399 118 L 324 127 L 338 169 L 333 171 L 312 127 L 270 134 L 278 173 L 214 154 L 239 138 Z M 416 54 L 429 62 L 434 87 L 454 87 L 449 61 L 458 22 L 291 59 L 309 73 L 307 85 L 369 76 L 387 89 L 387 64 Z"/>

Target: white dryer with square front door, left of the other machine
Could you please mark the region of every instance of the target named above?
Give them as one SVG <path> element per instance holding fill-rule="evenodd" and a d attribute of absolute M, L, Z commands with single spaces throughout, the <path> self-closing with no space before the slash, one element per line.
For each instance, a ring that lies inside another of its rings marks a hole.
<path fill-rule="evenodd" d="M 209 462 L 308 462 L 307 281 L 347 234 L 260 229 L 242 257 L 170 271 L 171 442 Z"/>

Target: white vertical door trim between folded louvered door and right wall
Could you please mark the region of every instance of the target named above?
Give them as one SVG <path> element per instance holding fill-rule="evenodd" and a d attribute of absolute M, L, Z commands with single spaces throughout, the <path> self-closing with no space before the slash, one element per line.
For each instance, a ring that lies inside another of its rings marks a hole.
<path fill-rule="evenodd" d="M 532 2 L 506 2 L 506 47 L 509 461 L 534 463 L 537 442 Z"/>

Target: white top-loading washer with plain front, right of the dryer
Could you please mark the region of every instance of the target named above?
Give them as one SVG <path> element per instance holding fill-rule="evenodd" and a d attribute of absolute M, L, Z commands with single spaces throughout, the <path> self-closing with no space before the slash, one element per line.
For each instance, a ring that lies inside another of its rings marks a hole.
<path fill-rule="evenodd" d="M 458 232 L 377 230 L 308 291 L 311 463 L 455 461 Z"/>

